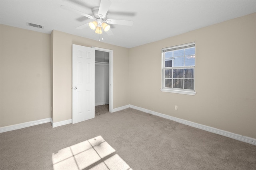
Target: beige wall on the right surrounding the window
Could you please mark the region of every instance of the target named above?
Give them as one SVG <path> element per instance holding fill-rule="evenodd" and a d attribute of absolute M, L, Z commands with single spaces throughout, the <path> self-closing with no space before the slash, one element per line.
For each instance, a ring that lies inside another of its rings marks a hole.
<path fill-rule="evenodd" d="M 193 41 L 197 94 L 161 92 L 161 49 Z M 256 13 L 131 48 L 130 104 L 256 138 L 255 49 Z"/>

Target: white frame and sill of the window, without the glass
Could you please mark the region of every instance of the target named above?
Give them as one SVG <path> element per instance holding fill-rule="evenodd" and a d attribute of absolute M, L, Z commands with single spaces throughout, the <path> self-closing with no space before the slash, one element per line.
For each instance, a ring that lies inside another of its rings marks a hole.
<path fill-rule="evenodd" d="M 178 93 L 178 94 L 188 94 L 188 95 L 195 95 L 195 67 L 196 63 L 194 66 L 176 66 L 174 67 L 173 61 L 172 61 L 172 67 L 170 69 L 184 69 L 184 68 L 194 68 L 194 90 L 188 90 L 188 89 L 181 89 L 181 88 L 166 88 L 165 87 L 165 53 L 168 51 L 174 51 L 176 49 L 185 49 L 189 47 L 195 47 L 195 42 L 192 43 L 187 43 L 187 44 L 182 44 L 182 45 L 177 45 L 173 47 L 167 47 L 162 49 L 162 88 L 160 89 L 162 92 L 170 92 L 170 93 Z M 184 78 L 183 78 L 184 79 Z"/>

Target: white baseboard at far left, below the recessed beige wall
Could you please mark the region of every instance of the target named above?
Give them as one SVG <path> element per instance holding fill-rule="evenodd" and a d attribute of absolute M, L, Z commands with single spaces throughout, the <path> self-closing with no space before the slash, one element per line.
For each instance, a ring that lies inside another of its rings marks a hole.
<path fill-rule="evenodd" d="M 25 123 L 16 124 L 16 125 L 4 126 L 4 127 L 0 127 L 0 133 L 7 132 L 7 131 L 13 131 L 13 130 L 17 130 L 17 129 L 22 129 L 24 127 L 40 125 L 42 123 L 48 123 L 48 122 L 51 122 L 51 118 L 46 118 L 46 119 L 41 119 L 41 120 L 36 120 L 36 121 L 29 121 L 29 122 L 25 122 Z"/>

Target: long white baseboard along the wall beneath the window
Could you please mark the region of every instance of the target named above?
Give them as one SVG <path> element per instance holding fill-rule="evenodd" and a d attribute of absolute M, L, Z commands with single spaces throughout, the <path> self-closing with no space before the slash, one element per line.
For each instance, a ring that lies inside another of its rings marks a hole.
<path fill-rule="evenodd" d="M 120 107 L 118 107 L 118 108 L 120 108 Z M 238 135 L 236 133 L 223 131 L 223 130 L 220 130 L 220 129 L 216 129 L 214 127 L 201 125 L 201 124 L 198 124 L 198 123 L 194 123 L 194 122 L 187 121 L 187 120 L 184 120 L 184 119 L 172 117 L 172 116 L 169 116 L 169 115 L 165 115 L 165 114 L 162 114 L 162 113 L 158 113 L 158 112 L 155 112 L 155 111 L 151 111 L 151 110 L 144 109 L 144 108 L 137 107 L 137 106 L 133 106 L 133 105 L 130 105 L 130 108 L 140 110 L 140 111 L 143 111 L 145 113 L 149 113 L 149 114 L 156 115 L 156 116 L 159 116 L 159 117 L 163 117 L 163 118 L 166 118 L 166 119 L 169 119 L 169 120 L 172 120 L 172 121 L 176 121 L 176 122 L 182 123 L 184 125 L 189 125 L 191 127 L 196 127 L 198 129 L 202 129 L 204 131 L 208 131 L 208 132 L 216 133 L 218 135 L 222 135 L 222 136 L 225 136 L 225 137 L 236 139 L 238 141 L 242 141 L 242 142 L 245 142 L 245 143 L 250 143 L 252 145 L 256 145 L 256 139 L 251 138 L 251 137 L 245 137 L 245 136 L 242 136 L 242 135 Z"/>

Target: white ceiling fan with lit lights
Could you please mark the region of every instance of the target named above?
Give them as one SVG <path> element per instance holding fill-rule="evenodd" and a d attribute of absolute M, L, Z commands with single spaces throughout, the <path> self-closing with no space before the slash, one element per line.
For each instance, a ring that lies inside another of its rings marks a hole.
<path fill-rule="evenodd" d="M 85 16 L 91 20 L 94 20 L 89 23 L 85 23 L 76 27 L 77 29 L 83 29 L 90 26 L 91 29 L 96 30 L 95 33 L 102 34 L 102 28 L 108 35 L 113 35 L 112 31 L 110 30 L 110 25 L 108 24 L 118 24 L 118 25 L 127 25 L 132 26 L 133 21 L 128 20 L 114 20 L 114 19 L 107 19 L 108 9 L 110 8 L 111 1 L 110 0 L 101 0 L 100 6 L 95 6 L 92 8 L 92 16 L 70 8 L 68 6 L 61 5 L 60 7 L 66 10 L 71 10 L 76 12 L 82 16 Z"/>

